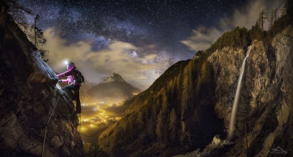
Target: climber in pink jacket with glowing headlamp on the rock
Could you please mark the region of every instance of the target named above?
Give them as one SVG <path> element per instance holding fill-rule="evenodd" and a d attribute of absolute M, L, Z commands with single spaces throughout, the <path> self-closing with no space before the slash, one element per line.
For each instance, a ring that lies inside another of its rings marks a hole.
<path fill-rule="evenodd" d="M 64 87 L 63 90 L 66 91 L 67 95 L 68 95 L 68 101 L 76 101 L 76 112 L 74 113 L 81 113 L 81 101 L 80 101 L 80 96 L 79 96 L 79 90 L 81 87 L 81 82 L 80 81 L 80 76 L 79 76 L 79 71 L 76 69 L 75 65 L 71 62 L 67 63 L 66 65 L 66 69 L 67 71 L 65 71 L 62 74 L 57 75 L 58 78 L 62 78 L 62 77 L 67 77 L 66 80 L 58 80 L 58 83 L 67 83 L 68 85 Z M 81 73 L 80 73 L 81 75 Z M 72 91 L 74 91 L 74 94 L 72 93 Z"/>

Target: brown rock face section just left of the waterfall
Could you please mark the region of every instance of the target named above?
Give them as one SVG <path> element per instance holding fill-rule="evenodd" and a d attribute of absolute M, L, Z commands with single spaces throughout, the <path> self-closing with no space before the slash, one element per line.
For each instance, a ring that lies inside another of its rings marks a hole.
<path fill-rule="evenodd" d="M 215 112 L 219 118 L 224 119 L 226 127 L 229 125 L 231 105 L 237 88 L 236 81 L 244 57 L 244 49 L 225 47 L 215 51 L 208 58 L 213 67 L 213 77 L 216 82 Z"/>

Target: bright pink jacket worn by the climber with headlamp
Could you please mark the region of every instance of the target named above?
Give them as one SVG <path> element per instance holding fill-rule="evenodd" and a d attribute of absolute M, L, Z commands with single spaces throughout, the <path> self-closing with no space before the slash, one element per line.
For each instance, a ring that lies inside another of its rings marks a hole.
<path fill-rule="evenodd" d="M 67 83 L 69 82 L 69 85 L 78 85 L 78 86 L 81 86 L 81 83 L 77 81 L 78 79 L 78 75 L 77 73 L 75 72 L 75 66 L 74 65 L 71 65 L 70 67 L 68 67 L 68 70 L 57 75 L 58 78 L 61 78 L 61 77 L 67 77 L 66 80 L 62 80 L 63 83 Z M 74 81 L 76 80 L 76 81 Z"/>

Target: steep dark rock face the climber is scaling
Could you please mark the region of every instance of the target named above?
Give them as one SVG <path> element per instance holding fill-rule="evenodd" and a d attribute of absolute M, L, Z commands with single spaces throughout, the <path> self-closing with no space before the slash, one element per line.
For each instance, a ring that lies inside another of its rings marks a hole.
<path fill-rule="evenodd" d="M 44 157 L 82 157 L 74 104 L 63 94 L 58 100 L 63 91 L 56 85 L 56 74 L 9 17 L 4 29 L 0 43 L 1 156 L 40 156 L 44 125 L 57 103 L 47 128 Z"/>

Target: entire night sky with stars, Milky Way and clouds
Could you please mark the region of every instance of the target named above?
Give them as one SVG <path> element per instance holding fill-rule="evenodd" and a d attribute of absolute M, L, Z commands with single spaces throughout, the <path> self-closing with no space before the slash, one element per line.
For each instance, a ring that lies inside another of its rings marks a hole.
<path fill-rule="evenodd" d="M 49 65 L 67 59 L 96 84 L 117 72 L 146 89 L 167 67 L 208 48 L 223 32 L 251 27 L 275 0 L 20 0 L 40 15 Z M 256 15 L 256 16 L 255 16 Z"/>

